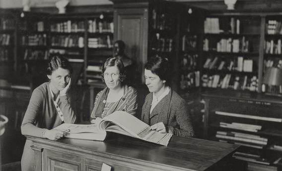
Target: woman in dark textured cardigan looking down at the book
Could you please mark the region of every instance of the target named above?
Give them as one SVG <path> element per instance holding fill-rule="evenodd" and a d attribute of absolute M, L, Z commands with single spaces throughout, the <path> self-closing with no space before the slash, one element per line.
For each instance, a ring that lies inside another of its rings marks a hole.
<path fill-rule="evenodd" d="M 185 100 L 168 86 L 168 61 L 154 56 L 144 68 L 145 83 L 150 93 L 145 98 L 141 120 L 161 133 L 194 136 Z"/>

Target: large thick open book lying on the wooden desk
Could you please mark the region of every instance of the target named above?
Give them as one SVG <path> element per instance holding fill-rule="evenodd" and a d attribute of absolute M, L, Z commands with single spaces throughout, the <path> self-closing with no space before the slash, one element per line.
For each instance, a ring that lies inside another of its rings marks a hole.
<path fill-rule="evenodd" d="M 106 131 L 132 136 L 145 141 L 167 146 L 172 134 L 159 133 L 150 126 L 124 111 L 116 111 L 111 115 L 96 118 L 90 125 L 62 124 L 54 129 L 70 129 L 65 137 L 103 141 Z"/>

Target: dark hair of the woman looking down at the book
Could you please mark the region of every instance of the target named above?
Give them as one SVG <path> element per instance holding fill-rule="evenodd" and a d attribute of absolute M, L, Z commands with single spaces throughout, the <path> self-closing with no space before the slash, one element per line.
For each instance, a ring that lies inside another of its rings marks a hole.
<path fill-rule="evenodd" d="M 153 74 L 159 76 L 161 80 L 165 80 L 168 84 L 170 81 L 169 64 L 164 57 L 152 56 L 144 66 L 144 69 L 150 70 Z"/>

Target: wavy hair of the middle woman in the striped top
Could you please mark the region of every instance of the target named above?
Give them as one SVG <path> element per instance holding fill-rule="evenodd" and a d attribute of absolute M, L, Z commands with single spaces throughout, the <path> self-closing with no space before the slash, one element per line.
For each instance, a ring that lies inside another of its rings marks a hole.
<path fill-rule="evenodd" d="M 120 82 L 123 83 L 126 79 L 124 64 L 119 58 L 116 58 L 116 57 L 109 57 L 104 62 L 103 66 L 102 66 L 102 79 L 103 79 L 103 81 L 105 82 L 104 73 L 105 73 L 106 69 L 109 68 L 109 67 L 113 67 L 113 66 L 116 66 L 118 68 L 118 70 L 120 71 L 119 80 L 120 80 Z"/>

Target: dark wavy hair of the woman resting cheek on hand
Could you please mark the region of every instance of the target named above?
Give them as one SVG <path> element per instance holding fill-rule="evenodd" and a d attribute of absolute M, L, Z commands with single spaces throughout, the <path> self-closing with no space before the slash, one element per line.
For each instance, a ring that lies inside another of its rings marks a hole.
<path fill-rule="evenodd" d="M 67 69 L 70 71 L 70 74 L 72 73 L 70 62 L 64 56 L 53 56 L 50 59 L 47 67 L 47 75 L 52 75 L 53 71 L 57 70 L 58 68 Z"/>

